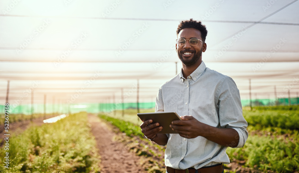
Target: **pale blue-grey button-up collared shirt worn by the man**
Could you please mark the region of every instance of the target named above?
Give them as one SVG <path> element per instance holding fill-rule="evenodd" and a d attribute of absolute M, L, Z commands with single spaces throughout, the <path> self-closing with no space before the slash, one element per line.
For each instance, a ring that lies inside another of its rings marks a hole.
<path fill-rule="evenodd" d="M 248 124 L 242 115 L 237 85 L 230 77 L 206 67 L 203 61 L 187 79 L 181 71 L 161 85 L 156 98 L 155 112 L 191 115 L 213 127 L 233 128 L 239 134 L 236 148 L 243 147 L 248 138 Z M 167 136 L 169 138 L 165 150 L 165 166 L 174 169 L 199 169 L 230 162 L 225 151 L 227 146 L 202 136 L 193 139 L 183 138 L 179 134 Z"/>

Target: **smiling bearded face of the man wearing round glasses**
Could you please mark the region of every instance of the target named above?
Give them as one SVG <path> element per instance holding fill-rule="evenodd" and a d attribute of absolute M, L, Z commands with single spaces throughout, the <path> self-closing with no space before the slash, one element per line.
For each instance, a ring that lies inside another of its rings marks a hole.
<path fill-rule="evenodd" d="M 186 66 L 192 66 L 196 63 L 202 62 L 202 52 L 206 50 L 206 44 L 199 41 L 196 46 L 191 46 L 188 39 L 197 38 L 202 40 L 201 33 L 195 28 L 184 28 L 179 34 L 178 38 L 186 39 L 184 46 L 176 44 L 176 52 L 182 63 Z"/>

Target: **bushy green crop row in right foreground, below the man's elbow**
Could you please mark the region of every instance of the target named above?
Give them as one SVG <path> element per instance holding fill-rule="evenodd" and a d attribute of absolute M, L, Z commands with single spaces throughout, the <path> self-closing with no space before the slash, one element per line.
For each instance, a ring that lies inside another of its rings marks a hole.
<path fill-rule="evenodd" d="M 273 139 L 271 137 L 249 136 L 243 148 L 228 148 L 231 159 L 245 160 L 246 166 L 262 172 L 298 172 L 298 142 Z"/>

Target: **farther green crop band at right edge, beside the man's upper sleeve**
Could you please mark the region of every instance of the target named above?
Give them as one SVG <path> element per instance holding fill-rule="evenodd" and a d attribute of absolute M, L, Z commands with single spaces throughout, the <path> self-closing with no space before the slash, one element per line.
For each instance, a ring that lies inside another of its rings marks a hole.
<path fill-rule="evenodd" d="M 299 111 L 248 111 L 243 110 L 248 125 L 262 127 L 279 127 L 282 129 L 299 130 Z"/>

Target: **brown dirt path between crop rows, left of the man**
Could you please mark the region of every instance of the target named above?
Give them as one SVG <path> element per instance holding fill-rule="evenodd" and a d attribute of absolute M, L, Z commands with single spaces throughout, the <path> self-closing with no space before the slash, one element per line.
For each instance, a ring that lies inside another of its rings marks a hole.
<path fill-rule="evenodd" d="M 129 152 L 124 144 L 114 141 L 115 133 L 107 124 L 92 114 L 88 115 L 88 120 L 101 156 L 101 173 L 146 173 L 140 157 Z"/>

